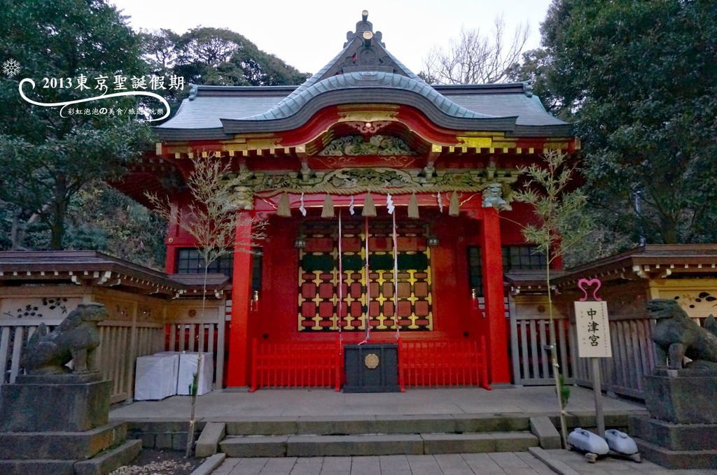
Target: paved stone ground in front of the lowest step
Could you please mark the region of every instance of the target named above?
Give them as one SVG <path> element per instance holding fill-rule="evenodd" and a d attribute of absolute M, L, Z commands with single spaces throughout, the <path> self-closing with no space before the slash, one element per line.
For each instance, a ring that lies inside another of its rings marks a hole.
<path fill-rule="evenodd" d="M 554 471 L 528 452 L 361 457 L 284 457 L 226 459 L 213 475 L 717 475 L 717 470 L 668 470 L 643 461 L 636 464 L 602 459 L 588 464 L 584 456 L 564 450 L 546 451 L 566 471 Z"/>

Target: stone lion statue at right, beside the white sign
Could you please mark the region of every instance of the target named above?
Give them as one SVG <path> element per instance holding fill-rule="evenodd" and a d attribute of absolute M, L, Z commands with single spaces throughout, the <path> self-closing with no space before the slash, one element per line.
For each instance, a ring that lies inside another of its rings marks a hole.
<path fill-rule="evenodd" d="M 647 302 L 650 318 L 657 320 L 652 341 L 657 344 L 657 364 L 670 358 L 670 368 L 682 368 L 683 357 L 693 360 L 686 368 L 717 370 L 717 323 L 710 317 L 700 327 L 688 317 L 675 300 L 654 299 Z"/>

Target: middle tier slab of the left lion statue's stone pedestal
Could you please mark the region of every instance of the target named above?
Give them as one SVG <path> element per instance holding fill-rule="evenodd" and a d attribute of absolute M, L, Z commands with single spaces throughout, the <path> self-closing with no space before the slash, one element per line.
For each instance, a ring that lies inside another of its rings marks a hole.
<path fill-rule="evenodd" d="M 0 432 L 0 459 L 85 460 L 125 438 L 125 423 L 85 432 Z"/>

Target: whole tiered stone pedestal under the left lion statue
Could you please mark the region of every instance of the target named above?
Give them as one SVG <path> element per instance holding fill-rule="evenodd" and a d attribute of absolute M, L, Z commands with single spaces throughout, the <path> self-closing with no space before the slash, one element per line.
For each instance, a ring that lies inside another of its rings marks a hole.
<path fill-rule="evenodd" d="M 111 382 L 99 373 L 21 375 L 0 386 L 0 471 L 101 475 L 127 464 L 141 441 L 108 423 Z"/>

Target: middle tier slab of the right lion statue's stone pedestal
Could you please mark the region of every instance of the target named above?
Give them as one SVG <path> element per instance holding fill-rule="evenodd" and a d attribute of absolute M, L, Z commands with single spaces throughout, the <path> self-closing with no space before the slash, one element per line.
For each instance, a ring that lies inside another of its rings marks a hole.
<path fill-rule="evenodd" d="M 630 433 L 673 451 L 717 447 L 717 424 L 673 424 L 647 416 L 631 416 Z"/>

